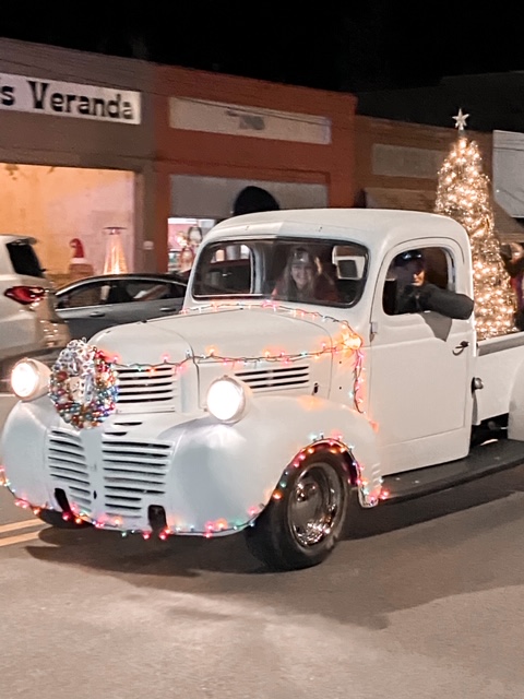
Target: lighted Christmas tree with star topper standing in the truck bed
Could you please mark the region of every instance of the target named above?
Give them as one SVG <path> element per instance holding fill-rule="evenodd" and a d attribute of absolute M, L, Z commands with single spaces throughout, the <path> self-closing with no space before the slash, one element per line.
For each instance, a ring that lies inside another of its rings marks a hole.
<path fill-rule="evenodd" d="M 466 119 L 455 119 L 457 140 L 439 171 L 436 213 L 451 216 L 467 230 L 473 257 L 475 319 L 479 340 L 515 330 L 516 299 L 495 234 L 490 182 L 475 141 L 465 135 Z"/>

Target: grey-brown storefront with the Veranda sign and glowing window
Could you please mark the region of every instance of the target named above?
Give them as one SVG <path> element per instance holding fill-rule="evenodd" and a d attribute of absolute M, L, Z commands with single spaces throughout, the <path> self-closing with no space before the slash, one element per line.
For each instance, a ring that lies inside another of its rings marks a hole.
<path fill-rule="evenodd" d="M 124 268 L 154 264 L 151 67 L 3 38 L 0 64 L 0 232 L 34 236 L 59 284 L 103 272 L 115 245 Z"/>

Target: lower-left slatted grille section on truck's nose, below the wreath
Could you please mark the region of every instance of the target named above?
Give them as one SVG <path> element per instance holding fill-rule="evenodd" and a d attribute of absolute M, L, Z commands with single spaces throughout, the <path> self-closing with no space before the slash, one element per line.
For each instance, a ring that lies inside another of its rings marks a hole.
<path fill-rule="evenodd" d="M 62 486 L 68 493 L 73 511 L 91 508 L 90 474 L 80 435 L 51 429 L 47 440 L 47 467 L 56 486 Z"/>

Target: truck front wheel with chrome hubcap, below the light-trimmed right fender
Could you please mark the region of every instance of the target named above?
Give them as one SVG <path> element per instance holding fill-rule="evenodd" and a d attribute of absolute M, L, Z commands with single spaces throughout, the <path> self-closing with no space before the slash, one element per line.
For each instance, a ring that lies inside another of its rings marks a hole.
<path fill-rule="evenodd" d="M 249 550 L 273 570 L 322 562 L 344 531 L 348 475 L 340 458 L 318 451 L 288 470 L 286 487 L 246 531 Z"/>

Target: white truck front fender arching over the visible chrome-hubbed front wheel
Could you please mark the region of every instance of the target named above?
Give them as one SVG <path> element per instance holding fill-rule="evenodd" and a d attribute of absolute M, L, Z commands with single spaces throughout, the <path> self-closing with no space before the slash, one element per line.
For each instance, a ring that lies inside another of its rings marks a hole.
<path fill-rule="evenodd" d="M 255 396 L 233 425 L 206 415 L 167 429 L 162 438 L 175 445 L 170 509 L 183 510 L 186 520 L 200 521 L 205 512 L 211 522 L 245 526 L 265 508 L 286 467 L 324 443 L 354 470 L 364 507 L 381 496 L 369 420 L 325 399 Z"/>

